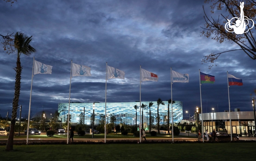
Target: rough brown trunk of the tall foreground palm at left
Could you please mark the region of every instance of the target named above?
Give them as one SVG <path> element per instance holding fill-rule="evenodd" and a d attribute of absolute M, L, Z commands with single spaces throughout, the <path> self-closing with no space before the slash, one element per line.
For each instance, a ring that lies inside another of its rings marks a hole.
<path fill-rule="evenodd" d="M 16 68 L 14 70 L 16 71 L 16 79 L 15 79 L 15 87 L 14 87 L 14 98 L 12 101 L 12 114 L 11 114 L 11 127 L 10 127 L 10 133 L 6 145 L 6 150 L 10 151 L 13 150 L 13 136 L 14 136 L 14 127 L 16 122 L 16 116 L 17 116 L 17 109 L 18 109 L 18 103 L 19 103 L 19 97 L 20 97 L 20 83 L 21 83 L 21 63 L 20 58 L 17 58 L 16 62 Z"/>

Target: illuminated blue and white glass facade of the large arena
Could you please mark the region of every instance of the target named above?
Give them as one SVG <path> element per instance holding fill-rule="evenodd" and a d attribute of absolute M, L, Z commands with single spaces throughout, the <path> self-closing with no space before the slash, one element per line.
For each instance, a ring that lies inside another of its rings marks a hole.
<path fill-rule="evenodd" d="M 150 107 L 151 116 L 157 117 L 157 102 L 152 101 L 154 104 Z M 163 123 L 164 116 L 167 116 L 168 111 L 168 101 L 163 101 L 165 105 L 159 105 L 159 116 L 160 116 L 160 124 Z M 173 121 L 180 122 L 183 119 L 183 107 L 181 101 L 175 101 L 173 104 Z M 141 104 L 149 106 L 149 102 L 141 102 Z M 107 115 L 110 122 L 110 116 L 116 116 L 116 123 L 125 123 L 125 124 L 135 124 L 136 110 L 134 109 L 134 105 L 139 106 L 139 102 L 116 102 L 116 103 L 107 103 Z M 58 104 L 58 112 L 60 113 L 60 119 L 62 122 L 67 119 L 69 103 L 59 103 Z M 84 112 L 85 107 L 85 112 Z M 141 109 L 142 111 L 142 109 Z M 81 113 L 85 113 L 85 124 L 90 124 L 90 118 L 93 115 L 93 103 L 70 103 L 70 115 L 71 122 L 77 123 L 79 121 L 79 115 Z M 95 123 L 99 122 L 99 115 L 105 115 L 105 102 L 98 103 L 95 102 Z M 170 120 L 171 120 L 171 104 L 170 104 Z M 155 120 L 155 119 L 154 119 Z M 149 109 L 143 110 L 143 122 L 149 123 Z M 155 121 L 156 123 L 156 121 Z M 139 124 L 139 109 L 137 109 L 137 124 Z"/>

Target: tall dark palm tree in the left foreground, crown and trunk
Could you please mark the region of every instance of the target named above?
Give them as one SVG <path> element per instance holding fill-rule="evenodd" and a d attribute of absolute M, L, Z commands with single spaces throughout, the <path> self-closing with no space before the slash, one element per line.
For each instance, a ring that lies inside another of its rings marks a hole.
<path fill-rule="evenodd" d="M 10 134 L 8 137 L 6 150 L 10 151 L 13 149 L 13 135 L 14 135 L 14 126 L 15 126 L 15 118 L 17 116 L 17 109 L 19 103 L 19 96 L 20 96 L 20 83 L 21 83 L 21 71 L 22 66 L 20 63 L 20 55 L 25 54 L 29 56 L 36 50 L 30 45 L 32 41 L 32 36 L 28 37 L 24 33 L 16 32 L 14 36 L 14 49 L 17 56 L 16 67 L 14 70 L 16 71 L 16 79 L 15 79 L 15 87 L 14 87 L 14 98 L 12 101 L 12 115 L 11 115 L 11 127 L 10 127 Z"/>

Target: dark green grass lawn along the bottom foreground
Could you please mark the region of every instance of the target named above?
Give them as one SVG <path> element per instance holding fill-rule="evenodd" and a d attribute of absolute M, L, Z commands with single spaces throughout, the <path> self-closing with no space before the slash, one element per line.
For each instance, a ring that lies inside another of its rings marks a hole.
<path fill-rule="evenodd" d="M 10 152 L 6 152 L 5 147 L 6 146 L 0 146 L 0 161 L 244 161 L 256 158 L 255 142 L 14 145 L 13 151 Z"/>

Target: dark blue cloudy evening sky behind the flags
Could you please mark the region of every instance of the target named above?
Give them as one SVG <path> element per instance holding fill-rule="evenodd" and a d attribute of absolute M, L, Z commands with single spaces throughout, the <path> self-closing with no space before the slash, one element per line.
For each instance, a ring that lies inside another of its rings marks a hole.
<path fill-rule="evenodd" d="M 139 65 L 159 76 L 158 82 L 141 83 L 141 101 L 171 98 L 170 67 L 189 74 L 189 83 L 173 83 L 173 99 L 183 102 L 192 114 L 200 105 L 199 69 L 215 76 L 214 84 L 202 84 L 203 112 L 228 110 L 227 71 L 243 79 L 243 86 L 230 86 L 231 110 L 252 111 L 255 63 L 242 51 L 221 55 L 216 65 L 203 63 L 212 52 L 238 49 L 201 36 L 210 4 L 204 0 L 17 0 L 11 6 L 0 1 L 0 34 L 24 32 L 33 35 L 37 50 L 21 56 L 23 66 L 19 104 L 28 116 L 32 63 L 53 66 L 52 75 L 37 74 L 32 86 L 32 115 L 43 108 L 57 110 L 68 102 L 70 67 L 91 67 L 91 77 L 73 77 L 71 101 L 105 102 L 106 62 L 125 72 L 125 80 L 109 79 L 107 102 L 139 100 Z M 218 12 L 217 12 L 218 13 Z M 223 21 L 223 20 L 222 20 Z M 0 50 L 0 114 L 11 113 L 16 55 Z M 218 107 L 218 108 L 217 108 Z M 19 114 L 19 113 L 18 113 Z M 185 114 L 184 114 L 185 115 Z M 10 115 L 9 115 L 10 116 Z"/>

